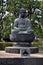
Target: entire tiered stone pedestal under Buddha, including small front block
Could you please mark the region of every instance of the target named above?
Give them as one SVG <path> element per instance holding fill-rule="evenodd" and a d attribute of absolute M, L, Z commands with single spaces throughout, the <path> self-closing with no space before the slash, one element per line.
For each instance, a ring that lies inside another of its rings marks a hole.
<path fill-rule="evenodd" d="M 29 56 L 30 53 L 37 53 L 37 47 L 31 47 L 31 42 L 34 40 L 34 33 L 15 33 L 11 34 L 15 43 L 13 43 L 12 47 L 6 47 L 5 51 L 9 53 L 19 53 L 21 56 Z"/>

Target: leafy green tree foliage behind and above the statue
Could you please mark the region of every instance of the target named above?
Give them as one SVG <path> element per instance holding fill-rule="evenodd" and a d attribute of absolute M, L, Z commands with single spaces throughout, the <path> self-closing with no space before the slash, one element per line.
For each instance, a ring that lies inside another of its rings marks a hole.
<path fill-rule="evenodd" d="M 9 34 L 11 33 L 11 28 L 13 28 L 14 25 L 11 26 L 11 23 L 14 23 L 14 19 L 18 17 L 19 15 L 19 10 L 21 7 L 26 8 L 29 10 L 29 7 L 40 7 L 42 10 L 42 18 L 40 19 L 40 23 L 43 24 L 43 1 L 38 2 L 37 0 L 34 2 L 34 0 L 7 0 L 7 11 L 12 13 L 13 16 L 10 16 L 10 13 L 3 18 L 3 30 L 2 30 L 2 35 L 3 38 L 8 38 Z M 28 16 L 29 17 L 29 16 Z M 32 24 L 33 24 L 33 29 L 35 32 L 35 35 L 39 38 L 43 38 L 43 28 L 41 29 L 40 25 L 37 25 L 34 23 L 36 19 L 35 13 L 31 15 L 31 18 L 33 19 Z M 39 21 L 38 21 L 39 22 Z"/>

